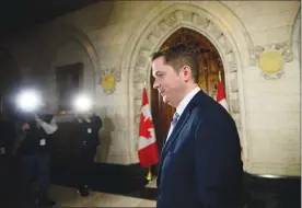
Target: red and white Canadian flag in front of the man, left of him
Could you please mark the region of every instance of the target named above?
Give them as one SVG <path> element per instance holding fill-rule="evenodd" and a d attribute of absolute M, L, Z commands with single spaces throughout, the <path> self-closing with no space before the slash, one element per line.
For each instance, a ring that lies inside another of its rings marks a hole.
<path fill-rule="evenodd" d="M 159 150 L 146 88 L 142 91 L 138 155 L 142 167 L 149 167 L 159 162 Z"/>

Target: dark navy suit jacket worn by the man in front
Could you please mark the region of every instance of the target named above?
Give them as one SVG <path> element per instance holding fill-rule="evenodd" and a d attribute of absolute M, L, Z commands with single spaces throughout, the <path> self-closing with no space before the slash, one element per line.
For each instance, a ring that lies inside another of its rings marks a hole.
<path fill-rule="evenodd" d="M 229 113 L 198 92 L 163 147 L 158 208 L 239 208 L 243 164 Z"/>

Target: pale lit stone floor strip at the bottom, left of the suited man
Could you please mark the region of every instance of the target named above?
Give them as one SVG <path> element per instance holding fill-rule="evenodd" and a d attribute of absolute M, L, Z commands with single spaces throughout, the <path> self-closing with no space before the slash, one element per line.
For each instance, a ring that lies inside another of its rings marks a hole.
<path fill-rule="evenodd" d="M 155 188 L 155 180 L 146 188 Z M 53 185 L 50 197 L 59 207 L 155 207 L 155 200 L 117 194 L 91 192 L 89 197 L 81 197 L 73 187 Z M 133 194 L 136 195 L 136 194 Z"/>

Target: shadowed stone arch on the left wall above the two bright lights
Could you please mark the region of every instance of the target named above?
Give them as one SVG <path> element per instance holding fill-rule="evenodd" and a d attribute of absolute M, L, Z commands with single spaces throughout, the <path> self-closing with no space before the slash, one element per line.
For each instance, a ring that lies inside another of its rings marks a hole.
<path fill-rule="evenodd" d="M 78 28 L 71 25 L 56 25 L 53 27 L 48 33 L 54 34 L 51 38 L 44 39 L 44 44 L 40 44 L 43 48 L 40 49 L 42 53 L 37 57 L 34 70 L 33 70 L 33 78 L 35 78 L 35 82 L 37 85 L 40 86 L 46 93 L 54 94 L 55 83 L 54 83 L 54 66 L 51 66 L 56 54 L 65 47 L 67 43 L 74 43 L 82 49 L 82 51 L 88 57 L 89 62 L 89 71 L 93 74 L 92 77 L 100 77 L 100 62 L 98 56 L 96 54 L 95 48 L 93 47 L 89 37 Z M 92 92 L 90 95 L 93 100 L 96 99 L 95 88 L 96 88 L 96 79 L 92 80 Z M 51 99 L 54 101 L 55 97 Z"/>

